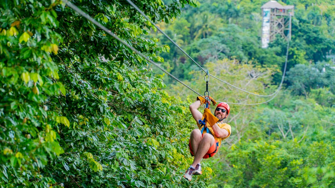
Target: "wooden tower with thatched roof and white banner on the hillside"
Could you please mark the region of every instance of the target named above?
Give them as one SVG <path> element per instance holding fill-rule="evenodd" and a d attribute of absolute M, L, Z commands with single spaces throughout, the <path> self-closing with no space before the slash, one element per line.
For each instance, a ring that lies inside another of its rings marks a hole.
<path fill-rule="evenodd" d="M 291 16 L 294 16 L 294 5 L 283 6 L 271 0 L 261 6 L 261 9 L 262 48 L 267 48 L 277 34 L 286 40 L 291 39 Z"/>

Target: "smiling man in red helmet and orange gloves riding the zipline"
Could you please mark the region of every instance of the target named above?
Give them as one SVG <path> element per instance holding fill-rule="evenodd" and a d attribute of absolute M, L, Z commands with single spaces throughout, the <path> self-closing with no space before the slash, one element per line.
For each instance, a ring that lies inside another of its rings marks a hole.
<path fill-rule="evenodd" d="M 212 101 L 213 105 L 216 104 L 216 101 L 211 97 L 208 97 L 208 99 Z M 192 130 L 189 140 L 190 152 L 194 156 L 193 163 L 184 175 L 184 178 L 189 181 L 191 181 L 192 175 L 202 174 L 201 159 L 213 157 L 220 147 L 221 141 L 230 136 L 230 125 L 222 122 L 229 114 L 229 105 L 225 102 L 219 103 L 214 111 L 214 116 L 209 109 L 210 101 L 206 101 L 205 97 L 199 96 L 190 105 L 190 111 L 199 129 Z M 208 108 L 205 108 L 202 114 L 198 108 L 205 103 L 208 103 Z"/>

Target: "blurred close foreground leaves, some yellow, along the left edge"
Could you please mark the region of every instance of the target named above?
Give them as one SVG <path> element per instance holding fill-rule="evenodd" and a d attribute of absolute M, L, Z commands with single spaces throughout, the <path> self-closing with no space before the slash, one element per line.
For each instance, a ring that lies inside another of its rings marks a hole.
<path fill-rule="evenodd" d="M 66 93 L 51 58 L 62 37 L 54 31 L 59 25 L 54 4 L 48 10 L 45 2 L 15 3 L 1 5 L 1 186 L 43 187 L 55 181 L 39 171 L 64 152 L 58 130 L 69 126 L 47 104 L 49 96 Z"/>

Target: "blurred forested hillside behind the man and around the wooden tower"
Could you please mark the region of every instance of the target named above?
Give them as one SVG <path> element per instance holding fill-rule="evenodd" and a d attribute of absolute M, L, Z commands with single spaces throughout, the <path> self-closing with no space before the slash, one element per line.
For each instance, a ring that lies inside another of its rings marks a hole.
<path fill-rule="evenodd" d="M 232 134 L 210 162 L 209 187 L 333 187 L 335 4 L 279 1 L 294 5 L 291 40 L 277 35 L 261 48 L 266 2 L 199 0 L 184 8 L 159 26 L 186 54 L 153 33 L 171 48 L 161 65 L 200 94 L 208 70 L 209 94 L 230 103 Z M 198 95 L 166 79 L 169 94 Z"/>

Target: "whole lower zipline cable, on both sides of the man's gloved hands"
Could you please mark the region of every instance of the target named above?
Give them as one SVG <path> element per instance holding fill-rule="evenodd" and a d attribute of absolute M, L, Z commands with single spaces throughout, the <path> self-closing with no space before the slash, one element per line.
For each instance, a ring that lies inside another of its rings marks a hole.
<path fill-rule="evenodd" d="M 101 25 L 99 22 L 97 22 L 96 20 L 94 20 L 92 17 L 90 17 L 88 14 L 86 14 L 85 12 L 83 12 L 81 9 L 79 9 L 77 6 L 75 6 L 74 4 L 72 4 L 71 2 L 69 2 L 68 0 L 64 0 L 64 2 L 70 7 L 72 8 L 74 11 L 76 11 L 77 13 L 79 13 L 80 15 L 84 16 L 86 19 L 88 19 L 89 21 L 91 21 L 92 23 L 94 23 L 96 26 L 100 27 L 101 29 L 103 29 L 104 31 L 106 31 L 108 34 L 110 34 L 111 36 L 113 36 L 115 39 L 119 40 L 121 43 L 123 43 L 124 45 L 126 45 L 128 48 L 130 48 L 133 52 L 137 53 L 138 55 L 140 55 L 141 57 L 143 57 L 144 59 L 146 59 L 147 61 L 149 61 L 150 63 L 152 63 L 153 65 L 155 65 L 156 67 L 158 67 L 161 71 L 163 71 L 164 73 L 168 74 L 169 76 L 171 76 L 172 78 L 174 78 L 175 80 L 177 80 L 179 83 L 181 83 L 182 85 L 184 85 L 185 87 L 187 87 L 188 89 L 190 89 L 191 91 L 193 91 L 194 93 L 196 93 L 197 95 L 201 96 L 201 94 L 199 94 L 198 92 L 196 92 L 195 90 L 193 90 L 192 88 L 190 88 L 189 86 L 187 86 L 186 84 L 184 84 L 182 81 L 180 81 L 178 78 L 176 78 L 175 76 L 173 76 L 172 74 L 170 74 L 169 72 L 167 72 L 166 70 L 164 70 L 163 68 L 161 68 L 158 64 L 156 64 L 154 61 L 150 60 L 149 58 L 147 58 L 144 54 L 142 54 L 141 52 L 139 52 L 138 50 L 136 50 L 133 46 L 130 46 L 129 44 L 127 44 L 125 41 L 123 41 L 121 38 L 119 38 L 117 35 L 115 35 L 114 33 L 112 33 L 110 30 L 108 30 L 105 26 Z M 289 45 L 289 41 L 287 43 L 287 46 Z M 288 48 L 287 48 L 287 52 L 286 54 L 288 54 Z M 287 62 L 287 56 L 286 56 L 286 62 Z M 206 71 L 205 71 L 206 72 Z M 286 63 L 285 63 L 285 68 L 284 68 L 284 73 L 286 72 Z M 281 83 L 283 82 L 284 78 L 282 78 Z M 278 93 L 277 93 L 278 94 Z M 277 95 L 276 94 L 276 95 Z M 257 104 L 264 104 L 267 103 L 269 101 L 271 101 L 272 99 L 274 99 L 276 97 L 276 95 L 274 97 L 272 97 L 271 99 L 262 102 L 262 103 L 253 103 L 253 104 L 248 104 L 248 103 L 231 103 L 231 102 L 226 102 L 229 104 L 240 104 L 240 105 L 257 105 Z M 220 102 L 220 101 L 217 101 Z"/>

